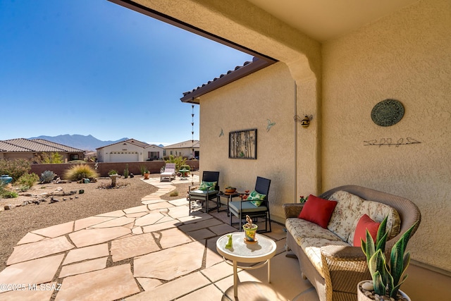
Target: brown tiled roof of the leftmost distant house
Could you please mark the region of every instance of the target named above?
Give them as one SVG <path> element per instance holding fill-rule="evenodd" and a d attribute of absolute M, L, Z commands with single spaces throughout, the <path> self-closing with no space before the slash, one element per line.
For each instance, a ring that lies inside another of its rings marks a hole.
<path fill-rule="evenodd" d="M 0 140 L 1 152 L 84 152 L 82 149 L 68 147 L 44 139 L 28 140 L 17 138 Z"/>

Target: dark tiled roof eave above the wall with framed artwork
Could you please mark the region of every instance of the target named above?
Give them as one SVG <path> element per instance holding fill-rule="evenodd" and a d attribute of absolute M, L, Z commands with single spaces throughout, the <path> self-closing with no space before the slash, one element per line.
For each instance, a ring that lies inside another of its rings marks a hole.
<path fill-rule="evenodd" d="M 183 97 L 180 98 L 180 100 L 182 102 L 199 104 L 199 100 L 196 99 L 197 97 L 201 97 L 202 95 L 216 90 L 219 87 L 228 85 L 230 82 L 244 78 L 245 76 L 254 73 L 262 68 L 265 68 L 266 66 L 269 66 L 273 63 L 276 63 L 276 61 L 264 60 L 254 57 L 252 61 L 247 61 L 242 66 L 236 66 L 234 70 L 228 70 L 226 74 L 221 74 L 218 78 L 214 78 L 214 80 L 210 80 L 206 84 L 199 86 L 192 91 L 183 92 Z"/>

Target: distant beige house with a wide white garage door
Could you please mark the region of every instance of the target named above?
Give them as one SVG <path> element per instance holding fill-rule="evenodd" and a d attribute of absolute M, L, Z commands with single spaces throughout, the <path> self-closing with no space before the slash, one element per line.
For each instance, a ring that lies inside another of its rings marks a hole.
<path fill-rule="evenodd" d="M 161 160 L 163 148 L 149 145 L 136 139 L 129 139 L 99 147 L 97 160 L 99 162 L 140 162 Z"/>

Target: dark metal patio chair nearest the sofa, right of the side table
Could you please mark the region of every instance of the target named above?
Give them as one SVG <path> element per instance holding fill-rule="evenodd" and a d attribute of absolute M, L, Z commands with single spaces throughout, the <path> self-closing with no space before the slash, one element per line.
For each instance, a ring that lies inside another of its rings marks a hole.
<path fill-rule="evenodd" d="M 255 183 L 255 191 L 266 195 L 265 199 L 259 207 L 254 207 L 250 200 L 243 199 L 235 202 L 228 202 L 228 211 L 230 212 L 230 226 L 233 226 L 232 218 L 236 216 L 239 219 L 240 228 L 238 231 L 242 231 L 242 221 L 246 218 L 246 215 L 251 218 L 265 218 L 265 228 L 264 230 L 258 230 L 259 233 L 271 232 L 271 214 L 269 213 L 269 201 L 268 193 L 269 186 L 271 185 L 271 180 L 267 178 L 261 178 L 257 176 L 257 181 Z M 244 205 L 244 210 L 243 210 Z M 254 207 L 254 208 L 253 208 Z M 268 231 L 268 221 L 269 221 L 269 231 Z"/>

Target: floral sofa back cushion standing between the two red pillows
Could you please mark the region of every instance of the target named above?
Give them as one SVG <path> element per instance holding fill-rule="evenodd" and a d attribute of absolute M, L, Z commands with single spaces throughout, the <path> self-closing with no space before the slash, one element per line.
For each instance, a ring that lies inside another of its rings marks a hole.
<path fill-rule="evenodd" d="M 334 192 L 329 199 L 337 201 L 338 204 L 330 216 L 327 228 L 343 241 L 352 243 L 349 238 L 355 231 L 354 222 L 362 216 L 359 211 L 364 199 L 342 190 Z"/>

